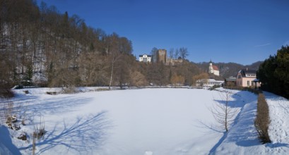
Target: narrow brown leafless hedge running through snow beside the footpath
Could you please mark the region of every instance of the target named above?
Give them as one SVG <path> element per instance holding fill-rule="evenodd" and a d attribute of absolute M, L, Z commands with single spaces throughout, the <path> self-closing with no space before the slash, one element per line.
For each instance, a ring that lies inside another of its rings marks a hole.
<path fill-rule="evenodd" d="M 261 142 L 263 142 L 263 144 L 271 142 L 268 133 L 269 123 L 269 107 L 265 100 L 264 94 L 259 93 L 255 127 L 259 134 L 259 139 Z"/>

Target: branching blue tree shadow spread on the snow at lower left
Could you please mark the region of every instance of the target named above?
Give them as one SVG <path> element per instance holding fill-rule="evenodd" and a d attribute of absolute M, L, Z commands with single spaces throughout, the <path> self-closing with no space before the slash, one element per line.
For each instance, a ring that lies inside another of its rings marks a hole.
<path fill-rule="evenodd" d="M 59 132 L 59 125 L 55 125 L 52 131 L 47 131 L 44 140 L 36 143 L 39 148 L 37 154 L 42 154 L 54 147 L 66 148 L 67 152 L 76 151 L 78 154 L 98 149 L 108 136 L 107 131 L 112 128 L 107 120 L 107 111 L 102 111 L 94 116 L 77 118 L 72 125 L 66 125 L 64 120 L 63 129 Z M 41 146 L 41 147 L 40 147 Z M 20 148 L 28 149 L 28 147 Z"/>

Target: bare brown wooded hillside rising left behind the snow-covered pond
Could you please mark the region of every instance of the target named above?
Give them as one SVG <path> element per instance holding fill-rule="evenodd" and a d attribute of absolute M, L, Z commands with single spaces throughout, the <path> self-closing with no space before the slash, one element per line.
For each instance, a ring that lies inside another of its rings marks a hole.
<path fill-rule="evenodd" d="M 187 60 L 180 66 L 139 63 L 126 37 L 106 34 L 44 2 L 4 0 L 0 9 L 1 87 L 167 85 L 173 75 L 191 85 L 201 73 Z M 182 58 L 188 53 L 186 48 L 171 51 Z"/>

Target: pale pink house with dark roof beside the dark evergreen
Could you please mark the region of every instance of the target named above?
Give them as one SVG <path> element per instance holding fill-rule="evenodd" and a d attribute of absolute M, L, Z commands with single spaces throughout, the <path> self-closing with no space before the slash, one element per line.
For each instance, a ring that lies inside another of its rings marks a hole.
<path fill-rule="evenodd" d="M 237 73 L 237 87 L 254 87 L 260 86 L 259 80 L 256 79 L 256 70 L 242 69 Z"/>

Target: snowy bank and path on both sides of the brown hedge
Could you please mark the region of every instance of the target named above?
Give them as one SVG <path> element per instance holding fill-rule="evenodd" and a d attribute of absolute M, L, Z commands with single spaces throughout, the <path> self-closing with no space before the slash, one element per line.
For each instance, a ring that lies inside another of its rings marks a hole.
<path fill-rule="evenodd" d="M 269 92 L 264 94 L 269 105 L 269 137 L 272 143 L 260 144 L 256 138 L 256 100 L 250 97 L 254 94 L 246 94 L 244 98 L 247 98 L 248 104 L 243 107 L 236 124 L 224 135 L 224 140 L 212 154 L 289 154 L 289 101 Z"/>

